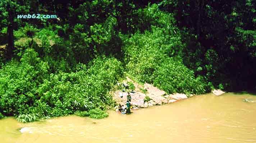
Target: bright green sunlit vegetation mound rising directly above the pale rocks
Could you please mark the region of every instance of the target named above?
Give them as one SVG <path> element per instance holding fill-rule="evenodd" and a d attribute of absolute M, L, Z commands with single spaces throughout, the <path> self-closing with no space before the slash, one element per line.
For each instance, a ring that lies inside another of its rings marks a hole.
<path fill-rule="evenodd" d="M 124 47 L 126 69 L 141 82 L 153 83 L 167 93 L 205 93 L 203 78 L 195 78 L 179 57 L 179 39 L 176 34 L 166 36 L 164 29 L 157 27 L 152 27 L 152 32 L 134 34 Z"/>

